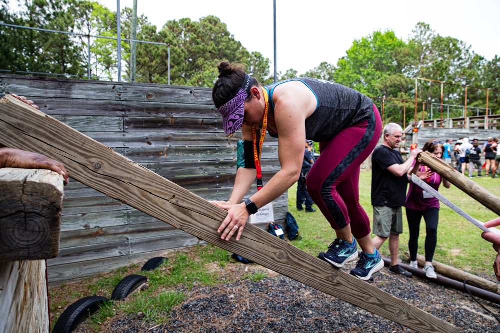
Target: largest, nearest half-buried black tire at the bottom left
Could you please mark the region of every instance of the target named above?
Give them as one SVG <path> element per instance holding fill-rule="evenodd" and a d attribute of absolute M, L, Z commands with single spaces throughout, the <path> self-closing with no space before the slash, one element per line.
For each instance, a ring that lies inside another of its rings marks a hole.
<path fill-rule="evenodd" d="M 69 333 L 74 331 L 83 319 L 97 311 L 100 304 L 106 301 L 109 300 L 105 297 L 87 296 L 72 303 L 59 316 L 52 333 Z"/>

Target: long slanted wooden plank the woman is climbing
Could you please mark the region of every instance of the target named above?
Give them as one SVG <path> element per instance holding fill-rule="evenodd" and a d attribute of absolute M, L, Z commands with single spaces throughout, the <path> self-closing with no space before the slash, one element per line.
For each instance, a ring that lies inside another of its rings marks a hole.
<path fill-rule="evenodd" d="M 418 332 L 458 332 L 269 233 L 246 224 L 238 242 L 216 232 L 226 212 L 25 103 L 0 100 L 0 143 L 43 152 L 70 177 L 175 228 Z"/>

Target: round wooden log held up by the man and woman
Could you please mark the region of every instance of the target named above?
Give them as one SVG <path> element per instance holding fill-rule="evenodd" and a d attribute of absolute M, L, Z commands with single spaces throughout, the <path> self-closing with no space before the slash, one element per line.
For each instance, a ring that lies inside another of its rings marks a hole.
<path fill-rule="evenodd" d="M 500 198 L 486 190 L 481 185 L 462 175 L 428 151 L 418 154 L 422 164 L 428 166 L 442 178 L 458 187 L 460 190 L 477 200 L 484 207 L 500 216 Z"/>

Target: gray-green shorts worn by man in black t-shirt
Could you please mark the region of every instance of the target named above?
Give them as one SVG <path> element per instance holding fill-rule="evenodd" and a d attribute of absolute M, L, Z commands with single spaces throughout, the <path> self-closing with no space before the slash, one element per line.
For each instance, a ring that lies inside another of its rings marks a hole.
<path fill-rule="evenodd" d="M 401 207 L 373 206 L 372 233 L 380 237 L 403 233 L 403 215 Z"/>

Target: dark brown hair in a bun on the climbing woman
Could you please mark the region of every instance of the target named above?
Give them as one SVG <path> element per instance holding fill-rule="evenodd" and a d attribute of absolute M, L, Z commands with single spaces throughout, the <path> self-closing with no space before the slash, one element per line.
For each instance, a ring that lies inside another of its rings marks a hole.
<path fill-rule="evenodd" d="M 215 105 L 222 105 L 231 98 L 241 87 L 245 78 L 245 70 L 242 64 L 222 61 L 218 64 L 218 78 L 213 84 L 212 99 Z M 258 87 L 259 82 L 252 77 L 252 86 Z M 248 95 L 246 100 L 250 100 L 252 95 Z"/>

